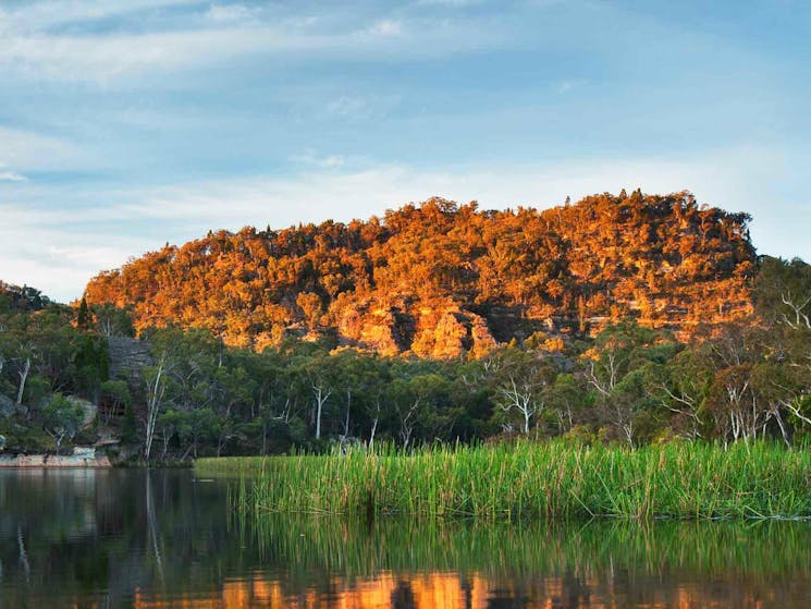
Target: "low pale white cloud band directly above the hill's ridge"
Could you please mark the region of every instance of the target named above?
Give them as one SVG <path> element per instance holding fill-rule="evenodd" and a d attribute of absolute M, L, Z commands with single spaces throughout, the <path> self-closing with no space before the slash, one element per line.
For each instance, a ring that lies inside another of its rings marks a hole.
<path fill-rule="evenodd" d="M 99 270 L 118 267 L 130 256 L 167 241 L 183 243 L 199 237 L 209 229 L 235 231 L 246 224 L 283 228 L 330 218 L 366 219 L 434 195 L 462 203 L 476 199 L 486 209 L 549 207 L 562 204 L 566 196 L 577 200 L 623 187 L 641 187 L 649 193 L 691 190 L 700 202 L 754 212 L 755 227 L 758 212 L 767 212 L 775 221 L 781 215 L 790 215 L 783 220 L 790 234 L 784 232 L 782 242 L 761 243 L 755 232 L 755 245 L 767 253 L 811 258 L 811 251 L 781 249 L 807 243 L 802 227 L 811 222 L 811 208 L 781 206 L 770 184 L 781 178 L 784 163 L 769 149 L 716 150 L 683 159 L 574 159 L 551 166 L 458 167 L 447 171 L 391 165 L 336 171 L 330 157 L 311 150 L 298 157 L 310 169 L 295 175 L 97 193 L 97 200 L 103 203 L 61 211 L 22 200 L 1 205 L 0 279 L 26 282 L 71 300 L 81 295 L 85 282 Z M 38 199 L 45 196 L 45 191 L 36 195 Z M 59 199 L 63 193 L 54 188 L 50 196 Z M 769 207 L 763 202 L 769 202 Z"/>

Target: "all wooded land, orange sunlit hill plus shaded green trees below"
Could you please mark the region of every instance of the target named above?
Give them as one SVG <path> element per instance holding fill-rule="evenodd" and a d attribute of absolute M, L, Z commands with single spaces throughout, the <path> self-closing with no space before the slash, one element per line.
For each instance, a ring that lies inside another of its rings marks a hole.
<path fill-rule="evenodd" d="M 687 194 L 434 199 L 167 247 L 74 306 L 3 287 L 0 450 L 806 441 L 811 266 L 755 258 L 747 221 Z"/>

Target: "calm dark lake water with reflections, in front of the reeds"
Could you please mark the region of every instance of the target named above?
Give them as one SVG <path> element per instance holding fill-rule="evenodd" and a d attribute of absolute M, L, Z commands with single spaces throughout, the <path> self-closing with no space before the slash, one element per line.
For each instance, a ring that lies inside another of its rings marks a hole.
<path fill-rule="evenodd" d="M 228 484 L 1 471 L 0 608 L 811 607 L 811 523 L 248 527 Z"/>

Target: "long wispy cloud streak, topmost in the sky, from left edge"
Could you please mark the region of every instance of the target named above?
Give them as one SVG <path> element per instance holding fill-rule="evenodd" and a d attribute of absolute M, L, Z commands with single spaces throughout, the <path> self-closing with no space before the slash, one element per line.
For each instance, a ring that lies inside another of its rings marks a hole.
<path fill-rule="evenodd" d="M 76 19 L 83 10 L 96 8 L 81 4 Z M 34 27 L 28 14 L 25 20 L 0 16 L 0 70 L 19 78 L 111 85 L 148 72 L 210 69 L 212 62 L 256 53 L 270 61 L 281 61 L 282 53 L 396 61 L 516 44 L 515 33 L 492 21 L 482 28 L 475 20 L 417 19 L 406 24 L 384 19 L 370 27 L 366 15 L 347 20 L 345 13 L 345 8 L 335 7 L 319 19 L 291 12 L 269 21 L 245 7 L 210 5 L 200 20 L 172 22 L 173 28 L 147 23 L 143 31 L 72 34 Z M 28 25 L 20 26 L 22 22 Z"/>

